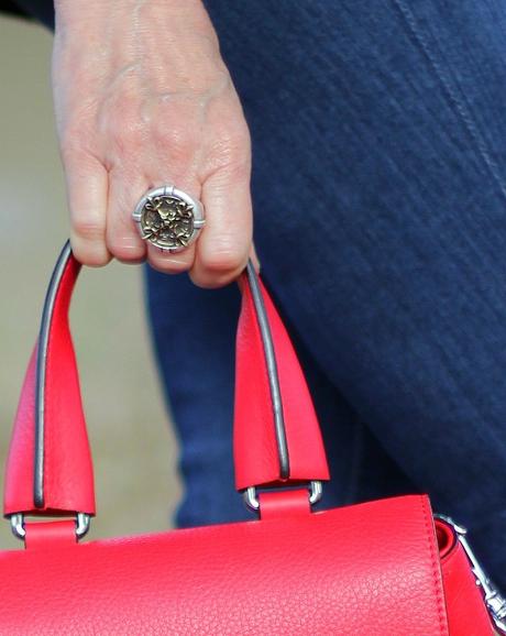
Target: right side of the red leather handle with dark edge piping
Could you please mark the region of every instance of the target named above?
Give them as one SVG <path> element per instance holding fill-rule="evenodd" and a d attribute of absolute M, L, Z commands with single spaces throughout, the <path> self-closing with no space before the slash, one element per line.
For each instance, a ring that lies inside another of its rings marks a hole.
<path fill-rule="evenodd" d="M 235 342 L 235 487 L 326 481 L 329 469 L 320 427 L 286 328 L 251 263 L 242 279 L 246 284 Z"/>

